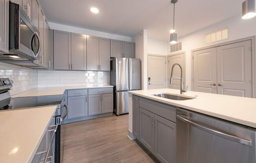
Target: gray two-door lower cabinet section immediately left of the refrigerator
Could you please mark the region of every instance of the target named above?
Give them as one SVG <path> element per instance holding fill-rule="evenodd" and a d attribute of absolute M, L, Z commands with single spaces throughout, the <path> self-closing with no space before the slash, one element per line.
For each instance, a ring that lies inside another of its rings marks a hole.
<path fill-rule="evenodd" d="M 113 112 L 113 93 L 89 95 L 89 116 Z"/>

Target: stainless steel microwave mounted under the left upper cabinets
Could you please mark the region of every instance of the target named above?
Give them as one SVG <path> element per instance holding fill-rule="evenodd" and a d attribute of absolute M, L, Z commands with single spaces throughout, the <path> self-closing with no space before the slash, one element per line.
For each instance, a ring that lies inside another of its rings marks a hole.
<path fill-rule="evenodd" d="M 17 60 L 37 60 L 40 50 L 39 31 L 23 11 L 22 6 L 10 2 L 8 56 L 14 60 L 15 58 Z"/>

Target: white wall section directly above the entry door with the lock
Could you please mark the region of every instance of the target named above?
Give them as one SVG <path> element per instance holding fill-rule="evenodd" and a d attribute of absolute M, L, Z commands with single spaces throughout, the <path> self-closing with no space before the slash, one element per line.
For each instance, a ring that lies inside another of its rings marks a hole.
<path fill-rule="evenodd" d="M 147 46 L 148 54 L 168 55 L 170 53 L 170 44 L 166 41 L 148 38 Z"/>

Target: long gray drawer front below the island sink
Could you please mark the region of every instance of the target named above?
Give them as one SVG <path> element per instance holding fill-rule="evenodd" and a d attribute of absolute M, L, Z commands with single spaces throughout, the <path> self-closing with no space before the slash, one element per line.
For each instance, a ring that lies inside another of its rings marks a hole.
<path fill-rule="evenodd" d="M 155 101 L 139 98 L 139 107 L 176 123 L 176 108 Z"/>

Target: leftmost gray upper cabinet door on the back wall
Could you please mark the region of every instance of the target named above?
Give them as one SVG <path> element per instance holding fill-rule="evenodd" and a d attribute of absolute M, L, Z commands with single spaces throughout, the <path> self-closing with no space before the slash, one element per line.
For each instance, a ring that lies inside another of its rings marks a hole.
<path fill-rule="evenodd" d="M 56 70 L 69 70 L 71 62 L 71 34 L 54 30 L 53 62 Z"/>

